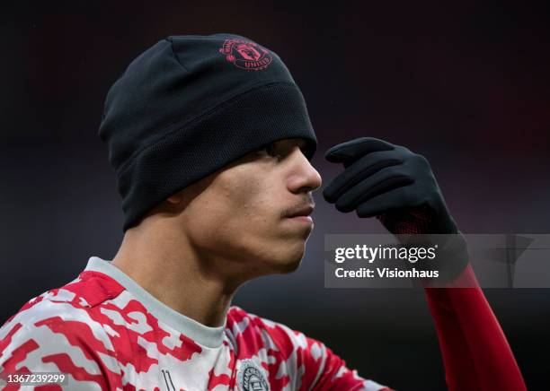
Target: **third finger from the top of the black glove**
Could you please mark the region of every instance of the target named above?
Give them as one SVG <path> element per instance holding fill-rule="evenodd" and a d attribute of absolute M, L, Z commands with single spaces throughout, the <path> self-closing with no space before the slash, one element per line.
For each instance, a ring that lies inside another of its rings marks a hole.
<path fill-rule="evenodd" d="M 336 201 L 336 209 L 341 212 L 350 212 L 359 204 L 368 199 L 386 193 L 396 187 L 404 187 L 414 182 L 414 178 L 407 175 L 403 169 L 386 167 L 372 176 L 363 179 L 356 186 L 351 187 Z"/>

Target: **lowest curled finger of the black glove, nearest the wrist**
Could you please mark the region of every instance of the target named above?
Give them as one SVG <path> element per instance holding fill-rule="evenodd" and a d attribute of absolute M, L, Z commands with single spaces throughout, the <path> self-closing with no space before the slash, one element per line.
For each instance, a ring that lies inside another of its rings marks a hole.
<path fill-rule="evenodd" d="M 411 184 L 409 186 L 414 185 Z M 397 187 L 359 204 L 357 207 L 357 215 L 359 217 L 374 217 L 391 210 L 422 204 L 424 201 L 414 197 L 409 186 Z"/>

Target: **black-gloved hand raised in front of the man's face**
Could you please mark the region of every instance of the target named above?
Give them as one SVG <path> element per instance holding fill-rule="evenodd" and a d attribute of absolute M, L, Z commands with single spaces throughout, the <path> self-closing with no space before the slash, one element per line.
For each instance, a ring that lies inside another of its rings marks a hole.
<path fill-rule="evenodd" d="M 345 168 L 323 190 L 339 211 L 377 216 L 395 234 L 458 232 L 430 163 L 420 154 L 360 137 L 333 146 L 324 158 Z"/>

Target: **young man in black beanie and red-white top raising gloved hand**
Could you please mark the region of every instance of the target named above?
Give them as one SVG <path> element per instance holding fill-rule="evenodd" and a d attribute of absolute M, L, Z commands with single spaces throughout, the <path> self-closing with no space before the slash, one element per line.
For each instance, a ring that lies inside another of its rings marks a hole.
<path fill-rule="evenodd" d="M 48 389 L 384 390 L 320 341 L 232 307 L 264 274 L 297 269 L 313 229 L 316 138 L 279 56 L 233 34 L 164 39 L 107 96 L 100 136 L 125 236 L 73 282 L 0 328 L 0 370 L 62 372 Z M 373 138 L 325 155 L 342 212 L 399 233 L 459 233 L 428 162 Z M 467 259 L 455 279 L 475 283 Z M 525 389 L 483 292 L 426 288 L 450 389 Z M 38 388 L 42 389 L 42 388 Z"/>

